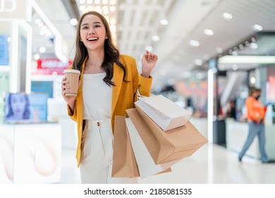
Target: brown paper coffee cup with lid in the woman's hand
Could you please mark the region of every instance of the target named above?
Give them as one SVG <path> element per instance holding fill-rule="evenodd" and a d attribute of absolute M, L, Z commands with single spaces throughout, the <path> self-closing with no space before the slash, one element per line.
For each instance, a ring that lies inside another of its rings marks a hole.
<path fill-rule="evenodd" d="M 66 69 L 63 71 L 63 74 L 67 78 L 67 81 L 69 81 L 68 86 L 70 86 L 70 92 L 65 93 L 65 95 L 76 96 L 78 93 L 80 71 L 77 69 Z"/>

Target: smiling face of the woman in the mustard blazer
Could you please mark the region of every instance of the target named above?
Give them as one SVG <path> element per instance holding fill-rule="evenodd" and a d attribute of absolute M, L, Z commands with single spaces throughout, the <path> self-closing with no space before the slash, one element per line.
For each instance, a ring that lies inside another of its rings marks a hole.
<path fill-rule="evenodd" d="M 87 47 L 87 50 L 104 49 L 106 36 L 106 29 L 98 16 L 89 14 L 82 19 L 80 40 Z"/>

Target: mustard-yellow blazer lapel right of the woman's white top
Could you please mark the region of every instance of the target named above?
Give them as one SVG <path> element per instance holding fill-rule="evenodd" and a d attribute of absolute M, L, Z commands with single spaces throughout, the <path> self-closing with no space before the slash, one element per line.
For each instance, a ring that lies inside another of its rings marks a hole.
<path fill-rule="evenodd" d="M 121 60 L 120 60 L 121 61 Z M 118 96 L 121 92 L 121 85 L 123 81 L 123 70 L 114 63 L 114 76 L 113 80 L 116 86 L 113 86 L 113 96 L 112 96 L 112 103 L 111 103 L 111 115 L 114 114 L 114 110 L 116 107 L 116 103 L 118 102 Z"/>

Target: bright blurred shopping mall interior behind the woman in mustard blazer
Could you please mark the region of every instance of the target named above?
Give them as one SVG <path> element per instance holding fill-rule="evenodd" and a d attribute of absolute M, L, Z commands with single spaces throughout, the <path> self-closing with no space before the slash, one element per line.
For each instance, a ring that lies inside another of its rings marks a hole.
<path fill-rule="evenodd" d="M 121 54 L 157 54 L 154 95 L 192 113 L 207 143 L 142 184 L 274 184 L 248 134 L 245 101 L 261 88 L 265 149 L 275 161 L 274 0 L 0 0 L 0 184 L 80 184 L 77 125 L 61 95 L 75 57 L 76 25 L 102 13 Z M 29 117 L 10 119 L 8 97 L 29 98 Z M 267 103 L 269 102 L 269 103 Z"/>

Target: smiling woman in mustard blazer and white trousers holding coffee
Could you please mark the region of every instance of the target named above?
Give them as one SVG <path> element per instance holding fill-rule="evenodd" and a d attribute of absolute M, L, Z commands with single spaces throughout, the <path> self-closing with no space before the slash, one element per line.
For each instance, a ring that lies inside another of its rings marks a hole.
<path fill-rule="evenodd" d="M 62 95 L 68 115 L 78 124 L 76 158 L 82 183 L 129 183 L 136 179 L 112 178 L 114 118 L 133 108 L 139 88 L 149 96 L 157 55 L 142 57 L 142 74 L 135 59 L 121 55 L 114 46 L 109 25 L 101 14 L 90 11 L 78 21 L 76 53 L 72 69 L 81 72 L 78 95 L 67 97 L 63 78 Z"/>

